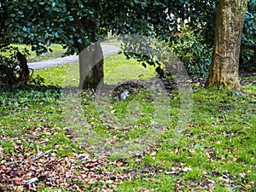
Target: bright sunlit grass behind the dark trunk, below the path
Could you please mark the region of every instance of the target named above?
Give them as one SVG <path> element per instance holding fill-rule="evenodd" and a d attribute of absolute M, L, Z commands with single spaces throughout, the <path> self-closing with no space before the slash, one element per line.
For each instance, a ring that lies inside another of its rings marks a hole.
<path fill-rule="evenodd" d="M 125 60 L 125 55 L 108 55 L 104 58 L 104 80 L 116 84 L 124 80 L 149 79 L 154 76 L 154 67 L 143 67 L 137 61 Z M 79 62 L 34 71 L 46 84 L 59 86 L 79 85 Z"/>

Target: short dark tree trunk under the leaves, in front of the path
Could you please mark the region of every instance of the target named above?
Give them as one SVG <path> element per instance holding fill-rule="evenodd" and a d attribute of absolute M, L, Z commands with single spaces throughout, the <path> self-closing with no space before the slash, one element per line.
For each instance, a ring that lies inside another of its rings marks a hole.
<path fill-rule="evenodd" d="M 103 79 L 103 54 L 100 42 L 79 52 L 79 88 L 94 89 Z"/>

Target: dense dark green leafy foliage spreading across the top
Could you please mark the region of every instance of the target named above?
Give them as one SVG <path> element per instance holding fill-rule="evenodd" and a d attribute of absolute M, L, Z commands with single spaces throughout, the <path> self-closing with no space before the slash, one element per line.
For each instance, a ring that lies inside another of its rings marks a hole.
<path fill-rule="evenodd" d="M 108 32 L 139 34 L 174 44 L 189 73 L 206 76 L 217 5 L 217 0 L 5 1 L 0 7 L 1 46 L 12 42 L 31 44 L 39 55 L 51 51 L 50 44 L 63 44 L 67 54 L 74 54 L 106 38 Z M 248 0 L 241 45 L 242 67 L 252 63 L 255 55 L 255 7 L 255 2 Z M 185 20 L 189 20 L 186 26 L 195 32 L 196 38 L 192 38 L 193 33 L 187 37 L 177 35 Z"/>

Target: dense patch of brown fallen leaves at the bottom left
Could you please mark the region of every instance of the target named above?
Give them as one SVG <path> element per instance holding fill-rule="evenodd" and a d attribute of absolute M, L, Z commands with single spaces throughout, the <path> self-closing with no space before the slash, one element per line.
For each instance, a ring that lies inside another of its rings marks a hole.
<path fill-rule="evenodd" d="M 48 126 L 35 127 L 33 130 L 24 131 L 23 137 L 27 136 L 26 141 L 29 143 L 45 145 L 49 143 L 49 139 L 35 136 L 40 136 L 42 131 L 52 135 L 49 130 Z M 72 139 L 72 136 L 69 137 Z M 0 191 L 38 191 L 45 186 L 49 189 L 61 187 L 67 191 L 99 188 L 113 191 L 117 184 L 131 178 L 130 173 L 122 173 L 117 169 L 125 165 L 123 160 L 111 162 L 113 171 L 108 171 L 110 162 L 106 156 L 92 157 L 89 153 L 73 153 L 59 157 L 57 148 L 44 152 L 39 147 L 36 150 L 28 149 L 19 144 L 21 141 L 17 140 L 20 138 L 4 134 L 0 140 L 9 140 L 15 147 L 12 154 L 4 156 L 5 148 L 0 147 Z"/>

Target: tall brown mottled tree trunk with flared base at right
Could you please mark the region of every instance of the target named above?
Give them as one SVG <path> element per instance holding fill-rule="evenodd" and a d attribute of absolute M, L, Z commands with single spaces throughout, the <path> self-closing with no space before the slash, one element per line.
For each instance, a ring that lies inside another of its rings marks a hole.
<path fill-rule="evenodd" d="M 246 9 L 247 0 L 219 1 L 212 65 L 206 88 L 217 86 L 232 90 L 241 89 L 238 67 Z"/>

